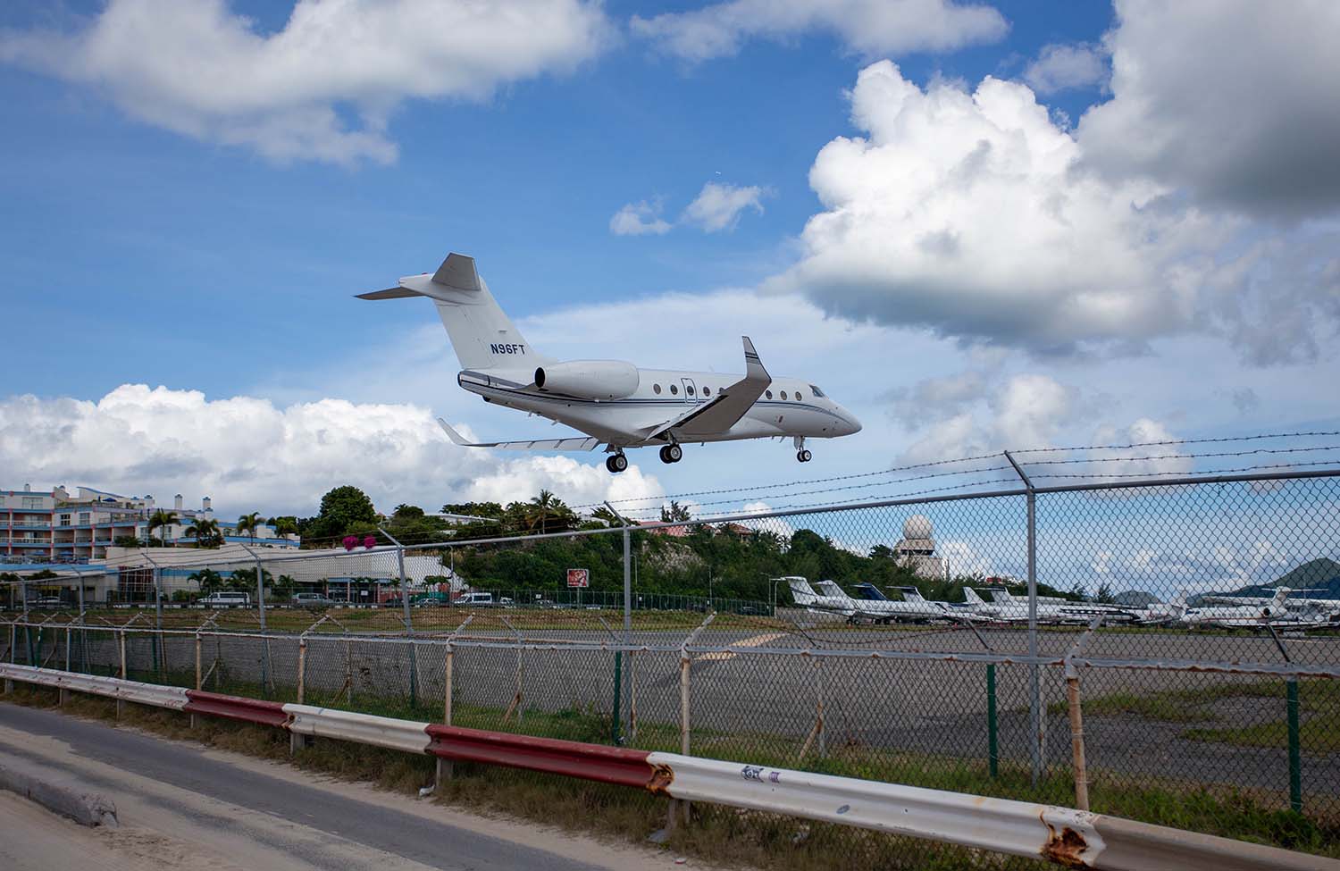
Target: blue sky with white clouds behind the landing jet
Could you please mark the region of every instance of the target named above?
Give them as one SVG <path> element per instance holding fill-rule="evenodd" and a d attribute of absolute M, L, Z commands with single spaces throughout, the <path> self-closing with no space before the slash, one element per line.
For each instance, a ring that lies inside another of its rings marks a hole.
<path fill-rule="evenodd" d="M 450 27 L 394 31 L 456 4 L 398 0 L 390 23 L 354 4 L 344 29 L 381 20 L 362 42 L 253 80 L 300 31 L 292 4 L 5 4 L 0 293 L 21 350 L 0 485 L 225 512 L 311 513 L 346 480 L 385 508 L 584 503 L 1340 423 L 1324 7 L 516 7 L 587 28 L 485 20 L 474 38 L 505 48 L 466 63 Z M 331 157 L 354 146 L 322 118 L 375 142 Z M 950 196 L 974 142 L 976 188 Z M 708 184 L 757 208 L 709 232 L 683 217 Z M 611 232 L 639 204 L 673 226 Z M 352 299 L 449 251 L 551 354 L 734 371 L 749 334 L 866 430 L 804 476 L 769 444 L 643 452 L 619 481 L 592 457 L 465 456 L 433 414 L 555 430 L 461 394 L 427 306 Z"/>

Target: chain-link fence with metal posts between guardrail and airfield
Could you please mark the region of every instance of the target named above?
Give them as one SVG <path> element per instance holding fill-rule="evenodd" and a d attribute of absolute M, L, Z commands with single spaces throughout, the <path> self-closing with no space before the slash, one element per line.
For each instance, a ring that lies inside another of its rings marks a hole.
<path fill-rule="evenodd" d="M 1076 485 L 1018 465 L 1022 486 L 963 496 L 352 553 L 185 551 L 80 579 L 82 612 L 11 611 L 0 646 L 1335 852 L 1340 477 Z M 568 590 L 568 568 L 592 588 Z M 251 607 L 200 607 L 244 590 Z"/>

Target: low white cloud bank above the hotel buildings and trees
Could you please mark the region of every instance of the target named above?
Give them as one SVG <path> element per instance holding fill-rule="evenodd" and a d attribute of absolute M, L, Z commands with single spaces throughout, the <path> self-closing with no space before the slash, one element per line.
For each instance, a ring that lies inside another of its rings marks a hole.
<path fill-rule="evenodd" d="M 83 484 L 159 501 L 166 493 L 210 496 L 224 515 L 312 515 L 322 493 L 342 484 L 362 488 L 382 511 L 528 500 L 541 488 L 568 504 L 662 490 L 635 465 L 611 476 L 598 461 L 457 448 L 415 405 L 320 399 L 277 407 L 145 385 L 122 385 L 98 401 L 0 399 L 0 469 L 35 488 Z"/>

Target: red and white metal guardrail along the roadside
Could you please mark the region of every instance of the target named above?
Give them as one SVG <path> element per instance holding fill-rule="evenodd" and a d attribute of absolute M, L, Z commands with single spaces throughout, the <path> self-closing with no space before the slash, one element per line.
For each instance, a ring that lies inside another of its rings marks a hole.
<path fill-rule="evenodd" d="M 1340 862 L 1323 856 L 1047 804 L 284 705 L 11 663 L 0 663 L 0 678 L 283 726 L 296 734 L 427 753 L 452 761 L 525 768 L 647 789 L 670 799 L 710 801 L 1049 859 L 1072 868 L 1340 871 Z"/>

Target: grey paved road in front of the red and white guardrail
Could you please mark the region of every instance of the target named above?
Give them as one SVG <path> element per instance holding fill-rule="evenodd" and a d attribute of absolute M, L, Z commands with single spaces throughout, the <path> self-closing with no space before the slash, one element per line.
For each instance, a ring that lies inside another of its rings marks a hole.
<path fill-rule="evenodd" d="M 84 829 L 0 793 L 0 867 L 276 871 L 665 870 L 674 859 L 523 823 L 486 820 L 287 765 L 0 704 L 0 754 L 79 777 L 117 804 Z M 20 828 L 8 821 L 17 820 Z"/>

